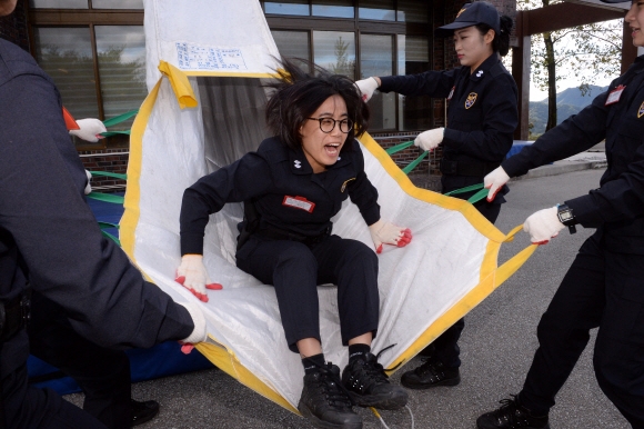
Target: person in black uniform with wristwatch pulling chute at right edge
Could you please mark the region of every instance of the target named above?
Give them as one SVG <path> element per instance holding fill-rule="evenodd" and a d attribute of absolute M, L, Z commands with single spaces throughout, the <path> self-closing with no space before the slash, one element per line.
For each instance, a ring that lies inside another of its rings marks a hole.
<path fill-rule="evenodd" d="M 644 2 L 634 1 L 625 20 L 633 43 L 644 47 Z M 480 429 L 550 428 L 554 398 L 597 327 L 593 365 L 600 387 L 633 428 L 644 428 L 644 57 L 591 106 L 503 161 L 485 177 L 485 187 L 493 199 L 510 177 L 604 139 L 608 167 L 600 188 L 525 220 L 535 243 L 566 226 L 597 230 L 580 248 L 539 323 L 540 347 L 523 390 L 481 416 Z"/>

